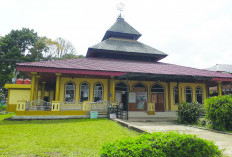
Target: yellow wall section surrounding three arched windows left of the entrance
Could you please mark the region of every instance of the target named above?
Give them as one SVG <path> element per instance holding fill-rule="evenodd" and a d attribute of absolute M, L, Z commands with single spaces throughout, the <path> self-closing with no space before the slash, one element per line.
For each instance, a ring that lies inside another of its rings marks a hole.
<path fill-rule="evenodd" d="M 94 78 L 68 78 L 68 77 L 61 77 L 60 82 L 60 101 L 63 102 L 65 98 L 65 84 L 69 81 L 75 83 L 76 90 L 75 90 L 75 100 L 80 101 L 80 85 L 83 82 L 87 82 L 90 86 L 90 93 L 89 93 L 89 101 L 94 101 L 94 85 L 96 83 L 101 83 L 103 85 L 103 100 L 108 100 L 108 79 L 94 79 Z"/>

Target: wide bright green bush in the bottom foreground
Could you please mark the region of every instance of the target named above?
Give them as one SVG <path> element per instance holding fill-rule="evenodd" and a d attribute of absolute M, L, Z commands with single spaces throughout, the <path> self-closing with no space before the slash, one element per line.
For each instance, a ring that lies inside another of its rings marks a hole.
<path fill-rule="evenodd" d="M 177 132 L 156 132 L 142 134 L 105 144 L 100 151 L 101 157 L 216 157 L 222 156 L 212 141 Z"/>

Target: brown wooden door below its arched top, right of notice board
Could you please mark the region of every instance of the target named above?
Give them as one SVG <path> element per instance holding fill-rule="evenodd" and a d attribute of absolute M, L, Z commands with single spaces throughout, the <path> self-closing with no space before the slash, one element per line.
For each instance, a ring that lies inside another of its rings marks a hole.
<path fill-rule="evenodd" d="M 164 94 L 163 93 L 152 93 L 151 102 L 155 103 L 156 112 L 164 112 Z"/>

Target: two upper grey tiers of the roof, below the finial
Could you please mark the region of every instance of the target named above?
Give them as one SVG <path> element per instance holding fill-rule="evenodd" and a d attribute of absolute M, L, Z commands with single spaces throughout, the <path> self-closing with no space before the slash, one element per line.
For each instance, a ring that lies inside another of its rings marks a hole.
<path fill-rule="evenodd" d="M 123 18 L 106 31 L 102 41 L 89 47 L 86 57 L 158 61 L 167 54 L 137 41 L 142 36 Z"/>

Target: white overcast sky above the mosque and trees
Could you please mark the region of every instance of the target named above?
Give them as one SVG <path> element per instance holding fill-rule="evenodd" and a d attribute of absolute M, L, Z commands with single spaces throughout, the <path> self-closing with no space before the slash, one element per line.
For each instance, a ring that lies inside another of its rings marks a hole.
<path fill-rule="evenodd" d="M 168 54 L 163 62 L 232 64 L 232 0 L 0 0 L 0 36 L 26 27 L 85 55 L 116 21 L 118 2 L 139 41 Z"/>

